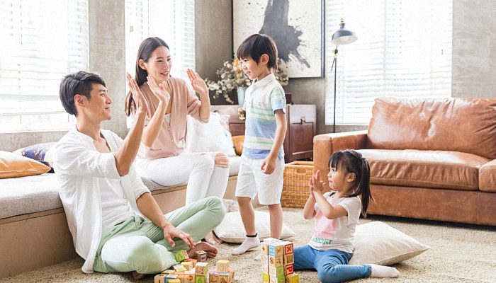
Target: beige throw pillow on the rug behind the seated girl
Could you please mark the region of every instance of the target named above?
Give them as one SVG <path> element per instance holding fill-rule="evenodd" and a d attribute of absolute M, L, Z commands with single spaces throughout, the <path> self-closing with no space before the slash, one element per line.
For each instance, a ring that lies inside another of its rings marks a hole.
<path fill-rule="evenodd" d="M 349 265 L 394 265 L 430 248 L 381 221 L 357 225 L 354 243 Z"/>

